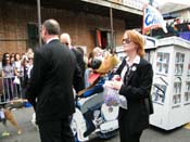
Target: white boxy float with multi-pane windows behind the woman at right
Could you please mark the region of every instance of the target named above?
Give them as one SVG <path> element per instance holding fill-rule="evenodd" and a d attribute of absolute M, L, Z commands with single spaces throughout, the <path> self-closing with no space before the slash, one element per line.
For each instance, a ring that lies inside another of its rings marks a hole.
<path fill-rule="evenodd" d="M 190 121 L 190 42 L 168 37 L 154 43 L 145 55 L 154 70 L 150 124 L 172 130 Z"/>

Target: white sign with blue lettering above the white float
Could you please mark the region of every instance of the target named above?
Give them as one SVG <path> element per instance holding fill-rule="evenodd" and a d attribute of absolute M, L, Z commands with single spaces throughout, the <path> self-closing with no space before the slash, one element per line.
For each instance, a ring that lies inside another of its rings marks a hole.
<path fill-rule="evenodd" d="M 162 14 L 154 7 L 145 5 L 143 10 L 142 34 L 153 28 L 163 28 L 167 33 L 166 22 Z"/>

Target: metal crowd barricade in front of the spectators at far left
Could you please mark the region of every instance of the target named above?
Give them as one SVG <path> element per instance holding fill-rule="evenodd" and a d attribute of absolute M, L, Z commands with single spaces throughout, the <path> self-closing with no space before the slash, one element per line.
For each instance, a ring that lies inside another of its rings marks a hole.
<path fill-rule="evenodd" d="M 23 77 L 1 77 L 0 78 L 0 104 L 23 99 L 22 88 Z"/>

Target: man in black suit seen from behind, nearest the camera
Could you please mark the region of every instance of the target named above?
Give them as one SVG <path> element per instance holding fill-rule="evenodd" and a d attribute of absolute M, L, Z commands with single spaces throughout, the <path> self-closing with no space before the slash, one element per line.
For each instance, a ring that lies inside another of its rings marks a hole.
<path fill-rule="evenodd" d="M 60 25 L 54 20 L 42 24 L 41 37 L 46 43 L 35 51 L 34 68 L 27 90 L 35 105 L 41 142 L 74 142 L 69 127 L 75 112 L 73 76 L 76 59 L 59 41 Z"/>

